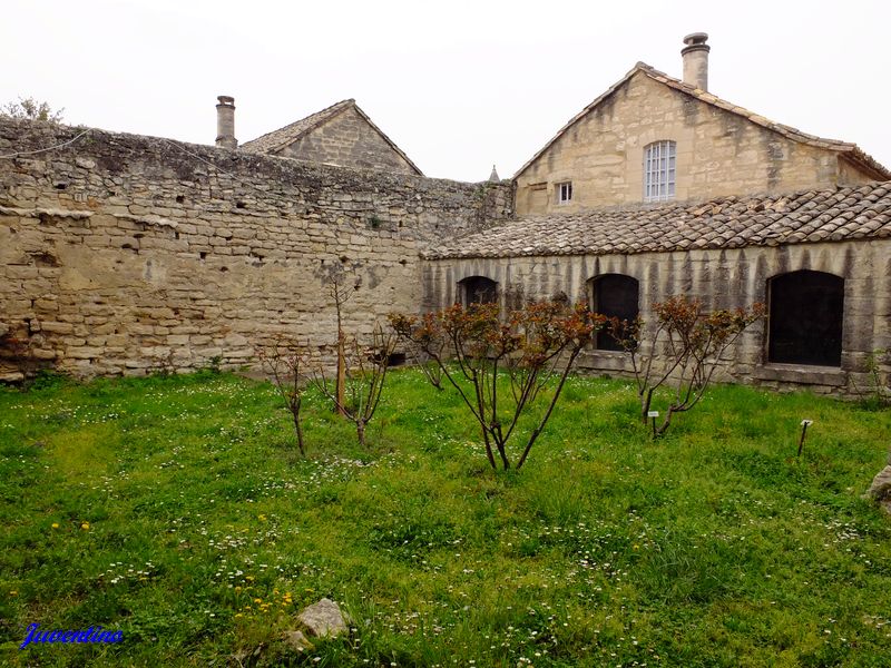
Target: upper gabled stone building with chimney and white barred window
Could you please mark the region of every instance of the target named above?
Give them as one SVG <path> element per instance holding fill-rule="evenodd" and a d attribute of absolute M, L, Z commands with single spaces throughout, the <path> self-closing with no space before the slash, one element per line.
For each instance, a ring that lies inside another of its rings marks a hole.
<path fill-rule="evenodd" d="M 891 178 L 855 145 L 767 120 L 707 91 L 705 33 L 684 80 L 638 62 L 515 175 L 517 213 L 792 193 Z"/>

